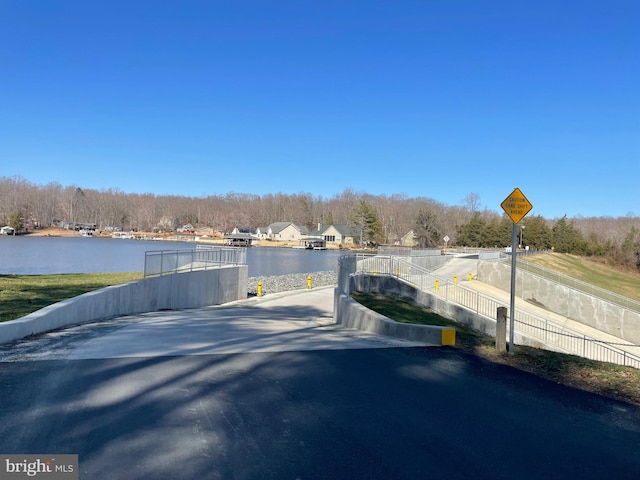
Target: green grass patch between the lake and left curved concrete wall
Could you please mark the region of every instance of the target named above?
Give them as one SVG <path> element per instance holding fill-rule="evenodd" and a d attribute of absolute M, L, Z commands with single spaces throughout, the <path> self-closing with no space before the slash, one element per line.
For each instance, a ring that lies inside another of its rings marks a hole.
<path fill-rule="evenodd" d="M 110 285 L 142 278 L 142 273 L 0 275 L 0 322 Z"/>

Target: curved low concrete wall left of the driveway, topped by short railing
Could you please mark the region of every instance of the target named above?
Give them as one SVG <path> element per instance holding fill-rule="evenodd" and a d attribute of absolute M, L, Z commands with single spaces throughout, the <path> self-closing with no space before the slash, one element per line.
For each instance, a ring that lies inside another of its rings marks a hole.
<path fill-rule="evenodd" d="M 246 265 L 150 277 L 113 285 L 0 323 L 0 344 L 67 325 L 247 298 Z"/>

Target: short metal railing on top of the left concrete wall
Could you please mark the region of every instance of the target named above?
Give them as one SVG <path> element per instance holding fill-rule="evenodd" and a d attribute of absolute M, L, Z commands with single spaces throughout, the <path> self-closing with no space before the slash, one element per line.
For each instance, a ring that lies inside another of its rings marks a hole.
<path fill-rule="evenodd" d="M 247 249 L 197 245 L 188 250 L 152 250 L 144 255 L 144 276 L 246 265 Z"/>

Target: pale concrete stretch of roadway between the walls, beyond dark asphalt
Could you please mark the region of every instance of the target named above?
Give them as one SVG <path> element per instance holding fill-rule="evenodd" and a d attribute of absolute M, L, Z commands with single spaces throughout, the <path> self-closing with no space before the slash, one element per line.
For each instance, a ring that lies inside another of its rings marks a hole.
<path fill-rule="evenodd" d="M 343 328 L 334 323 L 333 303 L 334 289 L 325 287 L 130 315 L 0 346 L 0 361 L 427 346 Z"/>

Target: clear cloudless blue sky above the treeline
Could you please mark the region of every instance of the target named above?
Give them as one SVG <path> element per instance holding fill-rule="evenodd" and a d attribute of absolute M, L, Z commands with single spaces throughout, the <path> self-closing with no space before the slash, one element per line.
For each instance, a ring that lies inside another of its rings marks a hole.
<path fill-rule="evenodd" d="M 0 176 L 640 215 L 640 2 L 0 0 Z"/>

